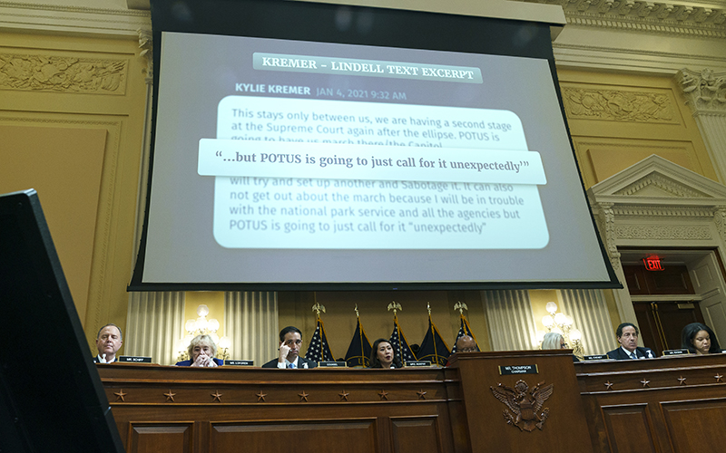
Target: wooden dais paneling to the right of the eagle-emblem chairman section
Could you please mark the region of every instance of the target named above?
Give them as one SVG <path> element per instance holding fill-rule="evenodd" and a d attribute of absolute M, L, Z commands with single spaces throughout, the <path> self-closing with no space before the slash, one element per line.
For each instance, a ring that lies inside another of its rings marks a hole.
<path fill-rule="evenodd" d="M 726 355 L 574 368 L 595 453 L 690 453 L 726 445 Z"/>

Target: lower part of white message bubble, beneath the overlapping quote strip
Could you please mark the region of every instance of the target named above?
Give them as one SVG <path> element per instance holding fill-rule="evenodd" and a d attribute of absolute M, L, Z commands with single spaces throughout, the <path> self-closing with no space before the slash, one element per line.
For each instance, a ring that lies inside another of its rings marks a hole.
<path fill-rule="evenodd" d="M 214 237 L 230 248 L 541 248 L 532 185 L 215 179 Z"/>

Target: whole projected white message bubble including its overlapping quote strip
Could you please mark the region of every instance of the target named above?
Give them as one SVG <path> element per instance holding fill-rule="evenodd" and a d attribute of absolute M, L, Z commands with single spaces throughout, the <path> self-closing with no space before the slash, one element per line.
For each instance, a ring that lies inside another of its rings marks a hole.
<path fill-rule="evenodd" d="M 200 142 L 198 169 L 216 176 L 221 246 L 486 249 L 549 241 L 536 187 L 546 183 L 542 162 L 511 111 L 229 96 L 217 128 L 219 140 Z"/>

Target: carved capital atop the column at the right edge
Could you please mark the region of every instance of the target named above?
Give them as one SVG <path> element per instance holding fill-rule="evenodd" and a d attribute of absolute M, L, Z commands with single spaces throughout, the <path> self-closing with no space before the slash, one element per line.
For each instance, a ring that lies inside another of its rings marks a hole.
<path fill-rule="evenodd" d="M 713 72 L 704 68 L 701 72 L 683 68 L 676 80 L 686 97 L 686 103 L 696 113 L 726 113 L 726 72 Z"/>

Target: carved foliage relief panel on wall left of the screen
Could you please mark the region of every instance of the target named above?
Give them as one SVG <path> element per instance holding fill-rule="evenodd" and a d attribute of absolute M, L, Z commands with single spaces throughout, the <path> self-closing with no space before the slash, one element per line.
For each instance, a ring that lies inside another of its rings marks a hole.
<path fill-rule="evenodd" d="M 125 59 L 0 53 L 0 90 L 126 93 Z"/>

